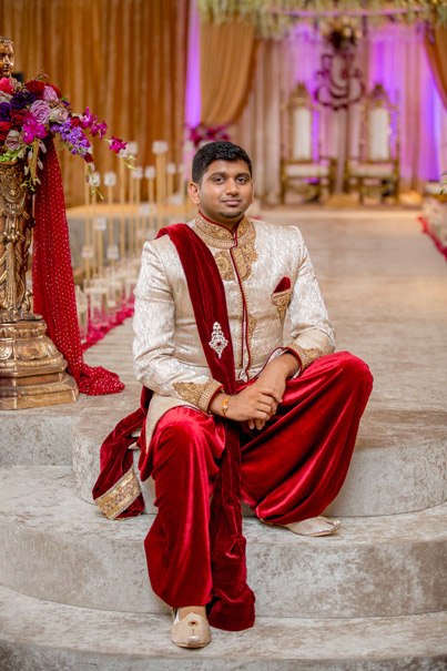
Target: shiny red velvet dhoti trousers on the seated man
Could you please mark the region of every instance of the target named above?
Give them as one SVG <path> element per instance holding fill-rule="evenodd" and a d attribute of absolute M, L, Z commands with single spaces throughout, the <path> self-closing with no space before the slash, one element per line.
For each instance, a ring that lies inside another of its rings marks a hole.
<path fill-rule="evenodd" d="M 357 357 L 324 356 L 287 380 L 262 431 L 241 425 L 243 499 L 257 517 L 285 525 L 324 511 L 345 480 L 372 385 Z M 224 446 L 224 420 L 184 406 L 160 419 L 149 446 L 159 512 L 144 546 L 152 588 L 170 606 L 212 599 L 210 500 Z"/>

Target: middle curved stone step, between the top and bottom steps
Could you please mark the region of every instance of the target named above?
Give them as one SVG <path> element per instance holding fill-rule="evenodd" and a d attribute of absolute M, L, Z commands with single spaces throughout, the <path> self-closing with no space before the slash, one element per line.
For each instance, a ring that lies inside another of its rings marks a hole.
<path fill-rule="evenodd" d="M 67 467 L 0 469 L 0 583 L 99 610 L 164 613 L 143 539 L 153 516 L 110 521 L 72 492 Z M 326 538 L 245 519 L 248 583 L 261 617 L 369 618 L 447 607 L 447 505 L 346 518 Z"/>

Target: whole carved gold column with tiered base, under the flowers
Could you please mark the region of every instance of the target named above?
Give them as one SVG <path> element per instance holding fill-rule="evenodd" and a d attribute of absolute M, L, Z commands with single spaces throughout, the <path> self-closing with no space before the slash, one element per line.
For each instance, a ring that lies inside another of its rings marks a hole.
<path fill-rule="evenodd" d="M 0 163 L 0 409 L 16 410 L 78 398 L 67 362 L 31 311 L 27 289 L 32 196 L 23 163 Z"/>

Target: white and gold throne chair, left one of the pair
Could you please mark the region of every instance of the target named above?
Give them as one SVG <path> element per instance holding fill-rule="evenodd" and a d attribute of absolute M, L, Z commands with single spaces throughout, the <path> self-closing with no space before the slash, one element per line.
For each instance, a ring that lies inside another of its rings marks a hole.
<path fill-rule="evenodd" d="M 306 200 L 321 200 L 333 191 L 335 161 L 321 155 L 319 108 L 312 102 L 305 84 L 299 82 L 283 108 L 285 123 L 281 156 L 281 202 L 288 191 Z M 317 155 L 314 156 L 313 138 L 317 129 Z"/>

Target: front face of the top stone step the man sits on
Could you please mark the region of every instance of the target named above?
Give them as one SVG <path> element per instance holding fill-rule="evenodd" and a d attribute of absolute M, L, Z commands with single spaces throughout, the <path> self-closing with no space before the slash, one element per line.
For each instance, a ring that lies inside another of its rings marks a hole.
<path fill-rule="evenodd" d="M 134 407 L 138 407 L 136 405 Z M 74 491 L 92 501 L 100 446 L 116 413 L 87 416 L 73 433 Z M 334 516 L 378 516 L 424 510 L 447 499 L 447 413 L 370 410 L 360 424 L 346 481 L 327 509 Z M 427 429 L 429 427 L 429 431 Z M 138 461 L 136 453 L 135 461 Z M 138 469 L 135 468 L 138 471 Z M 155 512 L 152 480 L 143 485 L 148 512 Z M 250 516 L 248 507 L 244 515 Z"/>

